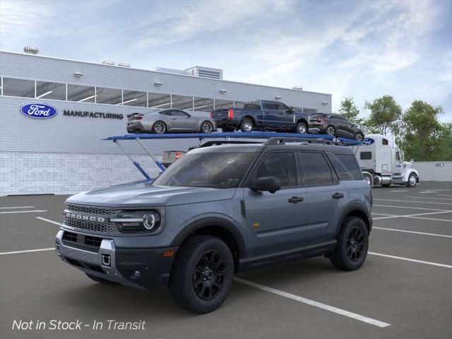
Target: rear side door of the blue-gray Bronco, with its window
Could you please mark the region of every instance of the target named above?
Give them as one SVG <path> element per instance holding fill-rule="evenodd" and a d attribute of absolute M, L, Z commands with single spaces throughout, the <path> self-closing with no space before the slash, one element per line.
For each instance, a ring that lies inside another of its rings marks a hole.
<path fill-rule="evenodd" d="M 335 239 L 340 207 L 347 201 L 347 190 L 340 184 L 322 152 L 298 152 L 302 180 L 307 190 L 307 222 L 311 245 Z"/>

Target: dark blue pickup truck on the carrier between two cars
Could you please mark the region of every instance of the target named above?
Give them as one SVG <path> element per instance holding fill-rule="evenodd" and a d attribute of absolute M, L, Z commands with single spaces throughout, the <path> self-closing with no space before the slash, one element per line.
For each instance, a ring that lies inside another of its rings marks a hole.
<path fill-rule="evenodd" d="M 309 115 L 287 107 L 283 102 L 256 100 L 243 108 L 218 109 L 210 114 L 223 132 L 241 130 L 308 133 Z"/>

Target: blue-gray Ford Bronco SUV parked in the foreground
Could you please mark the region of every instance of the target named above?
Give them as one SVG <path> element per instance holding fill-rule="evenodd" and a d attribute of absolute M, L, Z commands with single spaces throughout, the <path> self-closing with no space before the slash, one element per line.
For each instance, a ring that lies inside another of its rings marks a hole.
<path fill-rule="evenodd" d="M 201 146 L 154 182 L 66 201 L 59 257 L 100 283 L 168 285 L 175 302 L 220 307 L 234 273 L 325 256 L 367 256 L 372 196 L 350 148 L 297 138 Z"/>

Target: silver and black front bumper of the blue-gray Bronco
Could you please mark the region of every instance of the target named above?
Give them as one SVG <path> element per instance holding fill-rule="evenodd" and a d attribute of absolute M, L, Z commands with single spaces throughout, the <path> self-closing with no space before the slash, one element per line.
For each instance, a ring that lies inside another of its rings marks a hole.
<path fill-rule="evenodd" d="M 114 239 L 102 239 L 98 249 L 94 249 L 78 242 L 67 242 L 64 232 L 59 230 L 55 238 L 58 256 L 85 273 L 140 290 L 168 282 L 177 247 L 118 248 Z"/>

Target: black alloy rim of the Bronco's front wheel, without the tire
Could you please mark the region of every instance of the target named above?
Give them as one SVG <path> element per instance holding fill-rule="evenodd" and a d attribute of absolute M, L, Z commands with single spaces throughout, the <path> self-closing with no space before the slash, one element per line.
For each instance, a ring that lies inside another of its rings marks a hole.
<path fill-rule="evenodd" d="M 215 298 L 225 283 L 226 266 L 220 252 L 210 249 L 199 258 L 193 275 L 193 288 L 203 300 Z"/>

